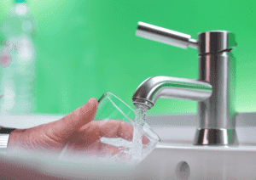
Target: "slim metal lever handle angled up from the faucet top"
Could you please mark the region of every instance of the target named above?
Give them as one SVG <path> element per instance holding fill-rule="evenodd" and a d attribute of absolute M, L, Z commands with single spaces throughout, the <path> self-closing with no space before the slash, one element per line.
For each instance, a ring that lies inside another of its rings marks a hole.
<path fill-rule="evenodd" d="M 143 22 L 138 22 L 136 35 L 179 48 L 198 48 L 197 40 L 191 39 L 190 35 Z"/>

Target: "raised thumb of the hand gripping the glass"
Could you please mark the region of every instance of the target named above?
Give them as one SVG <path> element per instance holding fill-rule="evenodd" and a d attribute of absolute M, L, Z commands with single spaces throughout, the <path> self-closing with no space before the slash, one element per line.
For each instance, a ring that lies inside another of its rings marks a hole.
<path fill-rule="evenodd" d="M 49 131 L 50 138 L 57 142 L 66 142 L 73 132 L 93 120 L 96 115 L 98 101 L 96 98 L 90 98 L 86 104 L 73 110 L 70 114 L 64 116 L 58 121 L 48 123 L 45 130 Z"/>

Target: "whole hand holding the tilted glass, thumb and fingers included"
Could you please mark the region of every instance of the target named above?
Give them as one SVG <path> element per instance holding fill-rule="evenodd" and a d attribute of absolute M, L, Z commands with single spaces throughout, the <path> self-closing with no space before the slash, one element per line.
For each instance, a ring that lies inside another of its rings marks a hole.
<path fill-rule="evenodd" d="M 118 147 L 101 143 L 100 138 L 124 138 L 131 141 L 133 127 L 125 121 L 92 121 L 97 103 L 96 98 L 90 98 L 86 104 L 61 120 L 28 129 L 16 129 L 9 136 L 8 154 L 20 154 L 21 150 L 30 155 L 47 153 L 58 156 L 67 142 L 67 150 L 75 155 L 118 153 Z M 148 138 L 143 136 L 143 143 L 148 142 Z"/>

